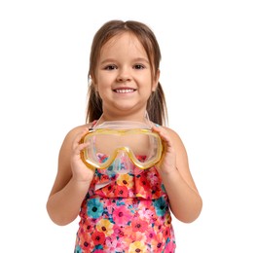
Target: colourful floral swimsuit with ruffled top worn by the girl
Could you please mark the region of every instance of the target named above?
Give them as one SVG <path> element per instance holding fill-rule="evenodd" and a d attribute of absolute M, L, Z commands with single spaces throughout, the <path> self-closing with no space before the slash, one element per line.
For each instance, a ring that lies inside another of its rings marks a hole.
<path fill-rule="evenodd" d="M 174 253 L 169 203 L 157 169 L 119 171 L 113 166 L 95 169 L 81 206 L 74 252 Z"/>

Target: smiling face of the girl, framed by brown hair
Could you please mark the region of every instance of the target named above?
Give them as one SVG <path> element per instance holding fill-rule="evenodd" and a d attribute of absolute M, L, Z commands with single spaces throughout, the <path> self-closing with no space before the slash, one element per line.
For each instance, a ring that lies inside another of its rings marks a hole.
<path fill-rule="evenodd" d="M 101 49 L 93 83 L 103 113 L 144 115 L 147 100 L 159 80 L 152 79 L 149 58 L 138 39 L 125 32 L 109 40 Z"/>

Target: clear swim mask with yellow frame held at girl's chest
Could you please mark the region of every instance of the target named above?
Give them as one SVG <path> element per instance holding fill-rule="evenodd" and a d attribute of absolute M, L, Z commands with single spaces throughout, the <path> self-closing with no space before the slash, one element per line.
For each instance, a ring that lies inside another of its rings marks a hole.
<path fill-rule="evenodd" d="M 84 163 L 93 168 L 126 171 L 132 164 L 146 169 L 159 163 L 164 151 L 162 139 L 149 124 L 128 121 L 104 122 L 89 130 L 81 143 L 89 146 L 81 153 Z M 130 164 L 132 163 L 132 164 Z"/>

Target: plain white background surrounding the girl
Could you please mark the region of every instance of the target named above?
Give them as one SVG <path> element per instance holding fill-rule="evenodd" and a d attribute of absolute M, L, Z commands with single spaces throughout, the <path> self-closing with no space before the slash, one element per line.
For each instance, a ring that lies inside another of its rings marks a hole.
<path fill-rule="evenodd" d="M 177 253 L 256 252 L 254 1 L 1 1 L 0 252 L 73 252 L 78 220 L 49 218 L 61 142 L 85 122 L 94 32 L 136 19 L 155 32 L 169 127 L 203 199 L 173 220 Z"/>

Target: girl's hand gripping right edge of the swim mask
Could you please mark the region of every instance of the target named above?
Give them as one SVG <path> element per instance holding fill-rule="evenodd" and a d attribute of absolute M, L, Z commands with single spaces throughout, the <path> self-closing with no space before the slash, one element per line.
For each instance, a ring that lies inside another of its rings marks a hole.
<path fill-rule="evenodd" d="M 171 137 L 164 127 L 154 126 L 152 130 L 160 135 L 165 150 L 161 162 L 157 164 L 157 168 L 161 174 L 168 174 L 176 170 L 176 153 L 171 142 Z"/>

